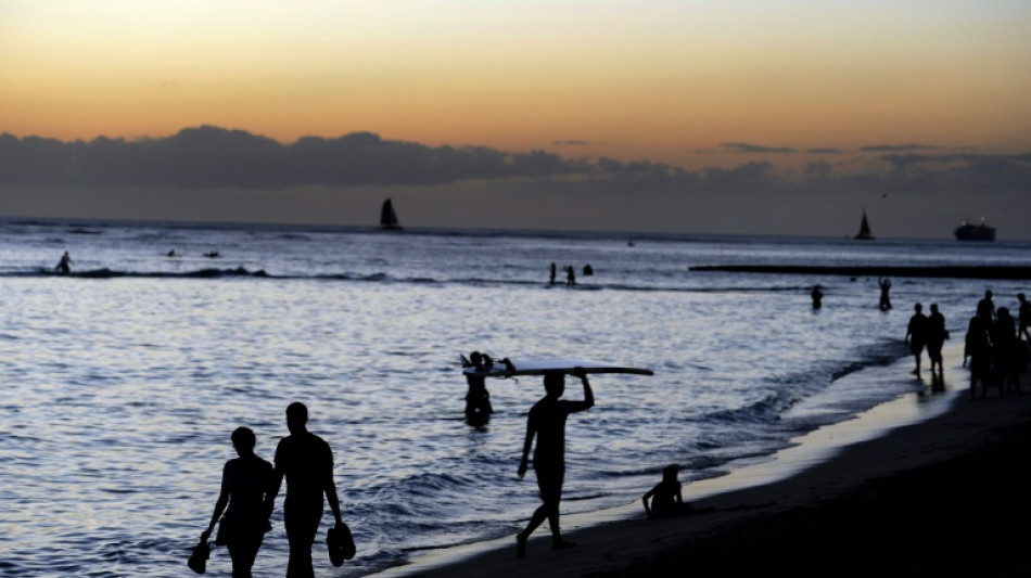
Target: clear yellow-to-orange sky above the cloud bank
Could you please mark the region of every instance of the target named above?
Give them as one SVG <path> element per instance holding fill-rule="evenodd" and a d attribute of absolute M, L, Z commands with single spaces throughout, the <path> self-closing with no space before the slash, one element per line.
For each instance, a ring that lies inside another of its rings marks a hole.
<path fill-rule="evenodd" d="M 1026 1 L 349 4 L 0 0 L 0 131 L 369 130 L 688 167 L 739 162 L 697 153 L 726 142 L 1031 140 Z"/>

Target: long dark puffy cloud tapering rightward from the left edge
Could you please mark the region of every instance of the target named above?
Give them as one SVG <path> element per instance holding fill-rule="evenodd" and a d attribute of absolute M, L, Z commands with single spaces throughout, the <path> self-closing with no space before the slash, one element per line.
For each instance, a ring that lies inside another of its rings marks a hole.
<path fill-rule="evenodd" d="M 0 134 L 0 185 L 282 189 L 433 185 L 588 171 L 585 162 L 485 146 L 427 146 L 371 132 L 293 144 L 212 126 L 161 139 L 61 142 Z"/>

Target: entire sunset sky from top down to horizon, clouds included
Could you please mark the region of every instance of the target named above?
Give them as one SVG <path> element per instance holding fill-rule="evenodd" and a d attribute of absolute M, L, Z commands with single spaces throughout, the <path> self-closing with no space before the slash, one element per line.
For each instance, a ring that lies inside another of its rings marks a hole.
<path fill-rule="evenodd" d="M 1031 239 L 1028 30 L 1026 0 L 0 0 L 0 216 Z"/>

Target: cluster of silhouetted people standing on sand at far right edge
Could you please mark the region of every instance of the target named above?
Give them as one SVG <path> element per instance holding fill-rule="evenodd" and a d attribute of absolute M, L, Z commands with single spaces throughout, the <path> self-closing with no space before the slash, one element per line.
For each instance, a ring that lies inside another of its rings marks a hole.
<path fill-rule="evenodd" d="M 975 314 L 967 324 L 963 350 L 963 364 L 969 360 L 970 399 L 975 399 L 977 385 L 981 384 L 983 399 L 989 387 L 996 387 L 998 395 L 1020 390 L 1020 372 L 1031 359 L 1029 345 L 1031 334 L 1031 303 L 1023 293 L 1017 294 L 1017 323 L 1008 307 L 995 308 L 991 291 L 978 301 Z"/>

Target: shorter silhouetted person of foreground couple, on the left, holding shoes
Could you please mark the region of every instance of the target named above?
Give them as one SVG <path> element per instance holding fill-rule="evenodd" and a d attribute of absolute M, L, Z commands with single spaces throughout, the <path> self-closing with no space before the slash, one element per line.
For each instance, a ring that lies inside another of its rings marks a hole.
<path fill-rule="evenodd" d="M 249 427 L 234 429 L 231 439 L 239 458 L 229 460 L 222 468 L 221 491 L 201 541 L 207 542 L 225 512 L 216 542 L 229 549 L 233 578 L 250 578 L 265 532 L 271 529 L 265 502 L 271 489 L 272 464 L 255 455 L 256 440 Z"/>

